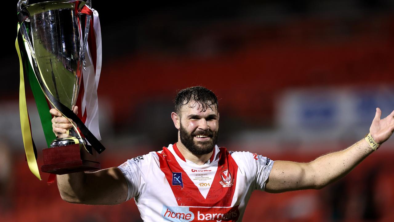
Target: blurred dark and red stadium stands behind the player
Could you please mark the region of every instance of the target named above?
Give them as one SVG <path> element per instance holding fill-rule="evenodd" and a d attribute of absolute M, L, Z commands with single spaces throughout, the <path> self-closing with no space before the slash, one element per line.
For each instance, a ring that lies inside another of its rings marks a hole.
<path fill-rule="evenodd" d="M 16 4 L 4 6 L 0 221 L 141 221 L 134 201 L 65 203 L 48 174 L 38 181 L 30 173 L 19 125 Z M 394 109 L 393 0 L 93 0 L 93 8 L 102 28 L 103 168 L 175 143 L 170 113 L 185 87 L 218 96 L 219 146 L 273 160 L 307 162 L 344 149 L 368 132 L 375 107 L 382 116 Z M 28 101 L 35 143 L 45 147 L 29 93 Z M 322 190 L 255 192 L 244 221 L 394 221 L 393 158 L 391 138 Z"/>

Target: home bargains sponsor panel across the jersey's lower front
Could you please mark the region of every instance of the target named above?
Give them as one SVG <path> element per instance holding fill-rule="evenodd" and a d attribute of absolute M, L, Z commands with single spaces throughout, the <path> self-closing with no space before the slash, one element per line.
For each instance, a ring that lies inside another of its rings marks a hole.
<path fill-rule="evenodd" d="M 240 216 L 235 207 L 168 207 L 163 205 L 162 217 L 173 222 L 228 221 L 235 222 Z"/>

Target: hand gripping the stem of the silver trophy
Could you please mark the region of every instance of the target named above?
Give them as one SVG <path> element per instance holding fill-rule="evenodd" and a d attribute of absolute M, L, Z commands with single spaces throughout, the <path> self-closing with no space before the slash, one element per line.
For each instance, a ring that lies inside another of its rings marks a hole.
<path fill-rule="evenodd" d="M 74 106 L 72 111 L 75 114 L 78 114 L 78 106 Z M 59 137 L 68 137 L 67 130 L 72 128 L 71 119 L 67 119 L 66 117 L 62 117 L 61 113 L 57 109 L 50 109 L 50 114 L 54 117 L 52 118 L 52 131 L 54 134 Z M 75 122 L 73 122 L 74 125 Z"/>

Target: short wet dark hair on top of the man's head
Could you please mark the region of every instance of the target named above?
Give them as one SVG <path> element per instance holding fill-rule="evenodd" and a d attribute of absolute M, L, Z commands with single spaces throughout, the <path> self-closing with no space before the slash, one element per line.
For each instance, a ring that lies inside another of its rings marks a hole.
<path fill-rule="evenodd" d="M 178 92 L 177 96 L 175 96 L 175 113 L 179 115 L 182 105 L 186 105 L 190 101 L 194 101 L 194 103 L 189 105 L 191 108 L 196 105 L 198 105 L 198 109 L 202 107 L 203 111 L 206 111 L 208 108 L 212 109 L 211 105 L 216 105 L 216 109 L 218 108 L 216 95 L 205 87 L 197 86 L 185 88 Z"/>

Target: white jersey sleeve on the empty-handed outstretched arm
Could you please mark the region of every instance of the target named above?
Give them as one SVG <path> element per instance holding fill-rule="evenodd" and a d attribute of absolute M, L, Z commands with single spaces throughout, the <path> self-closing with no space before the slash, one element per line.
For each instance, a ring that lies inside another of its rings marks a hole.
<path fill-rule="evenodd" d="M 251 152 L 233 152 L 231 156 L 251 182 L 253 190 L 264 191 L 274 161 Z"/>

